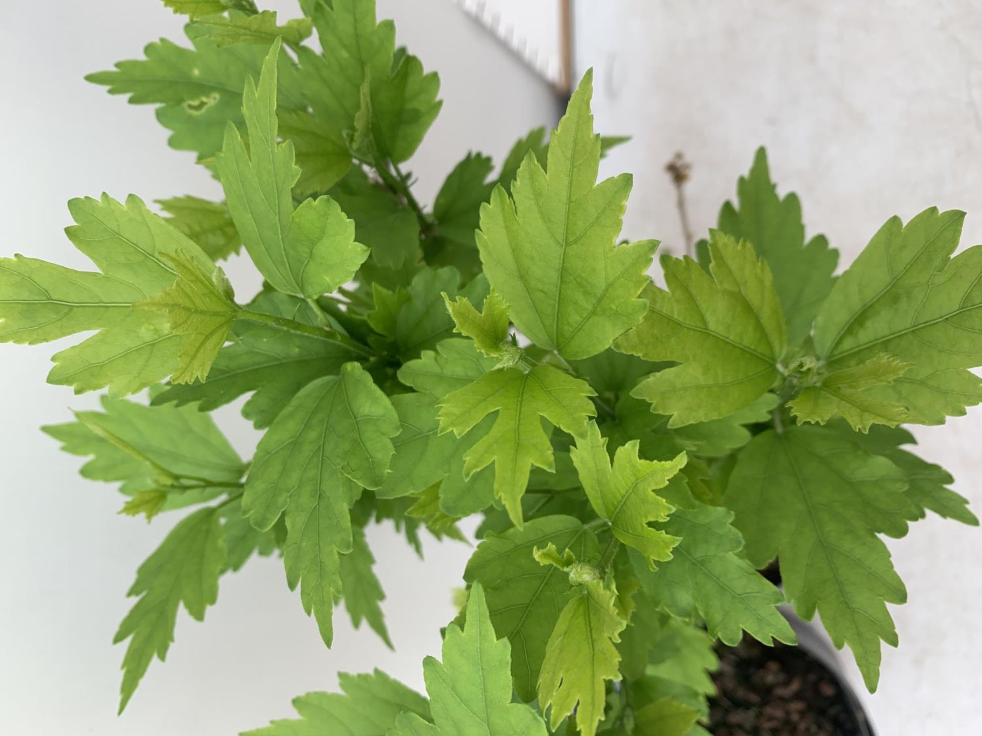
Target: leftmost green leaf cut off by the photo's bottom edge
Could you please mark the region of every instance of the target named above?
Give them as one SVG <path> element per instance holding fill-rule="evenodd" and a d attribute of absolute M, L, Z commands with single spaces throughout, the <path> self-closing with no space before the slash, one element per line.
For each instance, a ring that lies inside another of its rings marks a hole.
<path fill-rule="evenodd" d="M 426 699 L 384 672 L 338 675 L 344 693 L 307 693 L 294 699 L 300 718 L 274 720 L 241 736 L 385 736 L 396 716 L 414 712 L 428 718 Z"/>

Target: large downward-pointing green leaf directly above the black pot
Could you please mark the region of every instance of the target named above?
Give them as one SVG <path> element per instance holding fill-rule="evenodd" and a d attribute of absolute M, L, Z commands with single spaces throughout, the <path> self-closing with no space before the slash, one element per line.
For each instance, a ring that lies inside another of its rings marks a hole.
<path fill-rule="evenodd" d="M 818 427 L 770 430 L 743 449 L 725 502 L 755 567 L 776 556 L 785 593 L 810 619 L 817 609 L 837 648 L 848 644 L 876 690 L 880 640 L 897 646 L 886 603 L 906 599 L 877 533 L 902 537 L 917 510 L 894 463 Z"/>

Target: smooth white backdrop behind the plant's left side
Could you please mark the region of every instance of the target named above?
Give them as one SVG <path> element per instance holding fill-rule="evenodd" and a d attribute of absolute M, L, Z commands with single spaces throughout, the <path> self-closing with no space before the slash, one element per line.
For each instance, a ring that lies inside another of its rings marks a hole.
<path fill-rule="evenodd" d="M 0 67 L 7 70 L 0 253 L 90 269 L 61 232 L 70 224 L 69 198 L 103 189 L 147 202 L 183 193 L 220 197 L 193 154 L 167 147 L 151 107 L 129 106 L 82 80 L 140 56 L 150 40 L 179 40 L 179 17 L 157 0 L 0 4 Z M 295 14 L 290 0 L 260 5 Z M 398 41 L 442 80 L 443 112 L 409 165 L 423 201 L 469 149 L 500 161 L 520 135 L 555 123 L 549 85 L 450 2 L 379 0 L 379 15 L 396 20 Z M 246 260 L 229 272 L 240 294 L 258 287 Z M 118 516 L 115 490 L 82 480 L 82 459 L 38 431 L 69 421 L 69 407 L 94 405 L 92 395 L 44 383 L 49 356 L 75 341 L 0 345 L 0 734 L 233 734 L 290 715 L 290 700 L 301 693 L 335 689 L 339 670 L 375 666 L 421 689 L 422 658 L 439 654 L 469 548 L 429 544 L 423 563 L 389 527 L 376 527 L 369 542 L 397 652 L 366 627 L 355 632 L 343 610 L 328 651 L 299 594 L 287 589 L 282 561 L 252 560 L 222 579 L 204 623 L 179 614 L 167 661 L 150 665 L 116 717 L 124 647 L 111 646 L 112 636 L 134 602 L 126 591 L 137 565 L 173 519 L 158 517 L 148 527 Z M 219 413 L 234 444 L 251 456 L 256 433 L 236 408 Z"/>

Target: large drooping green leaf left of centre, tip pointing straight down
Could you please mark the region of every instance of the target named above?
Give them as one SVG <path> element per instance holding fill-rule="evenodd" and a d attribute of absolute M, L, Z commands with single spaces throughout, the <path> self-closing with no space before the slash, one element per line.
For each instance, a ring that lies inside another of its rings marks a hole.
<path fill-rule="evenodd" d="M 360 487 L 378 488 L 401 429 L 388 396 L 357 363 L 300 390 L 259 441 L 243 509 L 260 530 L 286 512 L 284 562 L 291 589 L 313 612 L 324 642 L 341 593 L 338 553 L 352 551 L 349 509 Z"/>

